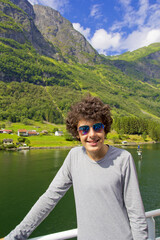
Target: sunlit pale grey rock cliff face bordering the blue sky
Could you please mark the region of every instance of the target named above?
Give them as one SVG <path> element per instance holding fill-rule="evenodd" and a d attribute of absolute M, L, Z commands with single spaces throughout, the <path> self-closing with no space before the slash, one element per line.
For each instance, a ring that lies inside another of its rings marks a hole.
<path fill-rule="evenodd" d="M 35 24 L 42 35 L 61 50 L 63 57 L 80 63 L 96 62 L 100 56 L 72 24 L 50 7 L 34 5 Z"/>

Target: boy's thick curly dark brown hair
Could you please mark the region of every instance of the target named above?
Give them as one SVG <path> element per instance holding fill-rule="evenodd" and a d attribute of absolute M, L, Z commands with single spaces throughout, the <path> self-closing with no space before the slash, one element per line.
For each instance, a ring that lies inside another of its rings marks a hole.
<path fill-rule="evenodd" d="M 82 119 L 102 122 L 105 134 L 110 132 L 113 121 L 109 105 L 104 104 L 100 98 L 91 95 L 87 95 L 80 102 L 71 106 L 71 110 L 68 112 L 66 128 L 75 138 L 78 136 L 78 122 Z"/>

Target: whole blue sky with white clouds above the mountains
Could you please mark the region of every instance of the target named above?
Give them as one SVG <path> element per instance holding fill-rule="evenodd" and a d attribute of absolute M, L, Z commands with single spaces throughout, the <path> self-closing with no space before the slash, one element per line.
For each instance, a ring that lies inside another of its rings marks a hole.
<path fill-rule="evenodd" d="M 29 0 L 67 18 L 104 55 L 160 42 L 160 0 Z"/>

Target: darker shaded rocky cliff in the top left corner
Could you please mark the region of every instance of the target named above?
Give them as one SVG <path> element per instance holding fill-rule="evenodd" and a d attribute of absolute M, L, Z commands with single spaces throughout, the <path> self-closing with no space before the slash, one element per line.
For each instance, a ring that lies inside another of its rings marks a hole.
<path fill-rule="evenodd" d="M 14 39 L 22 44 L 30 42 L 39 54 L 57 59 L 55 47 L 43 37 L 34 24 L 35 15 L 32 5 L 25 0 L 12 2 L 0 1 L 0 37 Z M 19 6 L 22 6 L 26 12 Z"/>

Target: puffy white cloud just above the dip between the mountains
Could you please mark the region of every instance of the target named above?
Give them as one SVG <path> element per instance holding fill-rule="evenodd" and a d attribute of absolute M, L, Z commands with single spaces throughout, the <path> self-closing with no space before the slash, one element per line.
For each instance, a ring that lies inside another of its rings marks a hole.
<path fill-rule="evenodd" d="M 99 29 L 94 33 L 90 42 L 100 53 L 104 53 L 109 49 L 117 49 L 120 40 L 121 36 L 119 33 L 107 33 L 104 29 Z"/>

